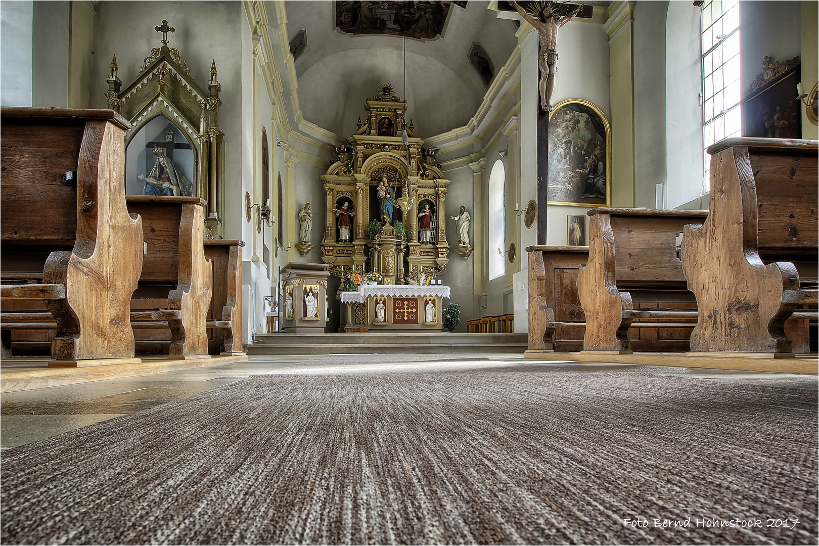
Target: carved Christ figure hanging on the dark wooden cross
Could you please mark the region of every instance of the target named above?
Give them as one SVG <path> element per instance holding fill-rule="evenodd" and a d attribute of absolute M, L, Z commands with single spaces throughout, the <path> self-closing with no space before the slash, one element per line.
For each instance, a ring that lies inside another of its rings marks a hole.
<path fill-rule="evenodd" d="M 541 38 L 541 52 L 537 55 L 537 64 L 541 69 L 541 108 L 543 111 L 552 111 L 552 89 L 554 88 L 554 72 L 557 70 L 558 52 L 555 49 L 558 43 L 558 29 L 574 19 L 582 5 L 577 6 L 574 11 L 566 16 L 559 16 L 554 13 L 555 4 L 558 2 L 530 2 L 530 9 L 535 7 L 540 10 L 535 11 L 537 18 L 518 5 L 518 2 L 509 0 L 523 20 L 537 29 L 537 34 Z M 542 6 L 542 7 L 541 7 Z"/>

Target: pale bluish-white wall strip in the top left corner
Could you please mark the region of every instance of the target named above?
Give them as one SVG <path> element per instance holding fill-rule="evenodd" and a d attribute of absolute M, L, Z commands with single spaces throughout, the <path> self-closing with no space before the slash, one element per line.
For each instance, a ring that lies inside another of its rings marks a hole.
<path fill-rule="evenodd" d="M 0 103 L 31 106 L 34 2 L 0 2 Z"/>

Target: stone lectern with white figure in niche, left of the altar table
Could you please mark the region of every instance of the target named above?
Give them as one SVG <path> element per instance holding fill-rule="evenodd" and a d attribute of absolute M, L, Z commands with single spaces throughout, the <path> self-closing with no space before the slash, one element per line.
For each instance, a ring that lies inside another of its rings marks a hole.
<path fill-rule="evenodd" d="M 327 325 L 327 264 L 290 262 L 282 269 L 284 313 L 288 334 L 320 334 Z"/>

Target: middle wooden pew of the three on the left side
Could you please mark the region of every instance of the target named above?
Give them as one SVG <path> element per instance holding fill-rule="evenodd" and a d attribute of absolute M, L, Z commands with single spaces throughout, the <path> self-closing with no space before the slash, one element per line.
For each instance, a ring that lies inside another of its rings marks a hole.
<path fill-rule="evenodd" d="M 138 346 L 169 359 L 206 359 L 213 270 L 203 244 L 206 202 L 199 197 L 126 196 L 143 218 L 147 255 L 131 309 Z M 170 340 L 167 330 L 170 329 Z"/>

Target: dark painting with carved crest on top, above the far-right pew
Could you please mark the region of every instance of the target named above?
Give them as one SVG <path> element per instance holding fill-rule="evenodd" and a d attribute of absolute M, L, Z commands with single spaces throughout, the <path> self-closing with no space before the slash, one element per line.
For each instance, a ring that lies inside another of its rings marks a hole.
<path fill-rule="evenodd" d="M 796 91 L 799 57 L 784 62 L 762 61 L 762 74 L 742 99 L 742 135 L 761 138 L 802 138 L 802 105 Z"/>

